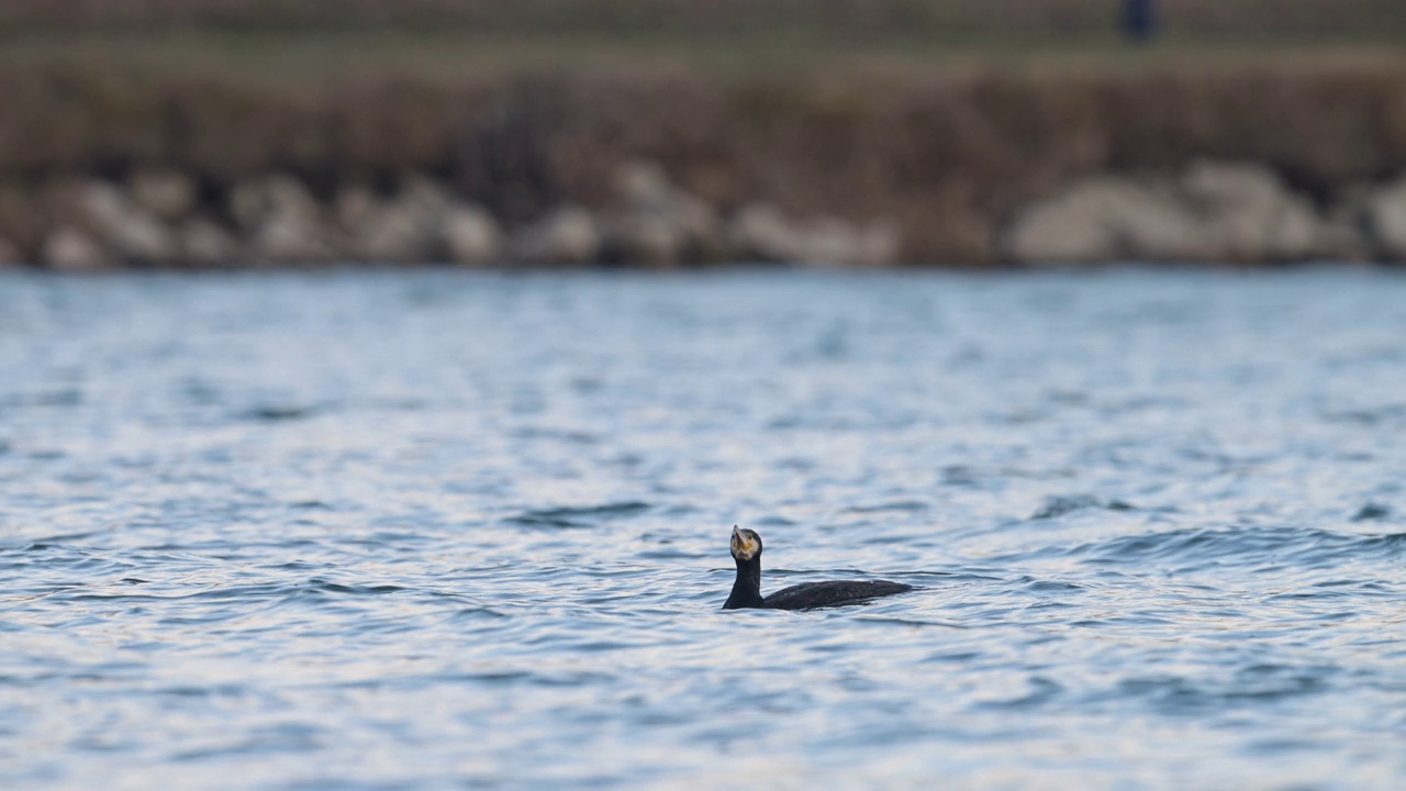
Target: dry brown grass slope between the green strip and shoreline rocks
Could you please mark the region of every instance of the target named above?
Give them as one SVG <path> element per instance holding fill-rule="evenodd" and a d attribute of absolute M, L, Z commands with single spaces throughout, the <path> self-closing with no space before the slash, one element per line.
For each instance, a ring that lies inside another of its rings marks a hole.
<path fill-rule="evenodd" d="M 515 222 L 602 203 L 614 165 L 643 158 L 724 208 L 765 198 L 896 218 L 911 256 L 981 262 L 1012 210 L 1090 173 L 1247 159 L 1326 196 L 1406 163 L 1406 63 L 1393 55 L 873 61 L 772 75 L 333 61 L 298 79 L 172 63 L 0 58 L 13 86 L 0 96 L 0 182 L 159 163 L 215 196 L 267 170 L 330 193 L 423 170 Z"/>

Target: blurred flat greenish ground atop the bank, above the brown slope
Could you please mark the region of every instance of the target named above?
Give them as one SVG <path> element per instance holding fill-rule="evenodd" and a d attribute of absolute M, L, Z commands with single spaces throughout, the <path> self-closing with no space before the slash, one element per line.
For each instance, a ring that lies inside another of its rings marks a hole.
<path fill-rule="evenodd" d="M 963 59 L 1199 59 L 1406 42 L 1402 0 L 1157 0 L 1152 46 L 1122 0 L 0 0 L 0 58 L 254 77 L 523 66 L 849 69 Z"/>

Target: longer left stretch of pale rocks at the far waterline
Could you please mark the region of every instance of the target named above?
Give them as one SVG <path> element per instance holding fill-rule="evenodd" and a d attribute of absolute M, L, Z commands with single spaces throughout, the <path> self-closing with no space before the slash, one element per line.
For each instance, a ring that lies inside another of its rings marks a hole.
<path fill-rule="evenodd" d="M 0 239 L 10 263 L 65 272 L 114 267 L 229 267 L 325 263 L 468 266 L 624 265 L 673 267 L 748 262 L 896 263 L 893 225 L 789 217 L 765 203 L 724 214 L 672 184 L 654 165 L 619 169 L 599 210 L 562 205 L 505 228 L 484 207 L 426 176 L 389 191 L 367 184 L 319 200 L 285 173 L 236 183 L 204 200 L 195 179 L 138 170 L 125 183 L 63 179 L 0 197 L 30 248 Z"/>

